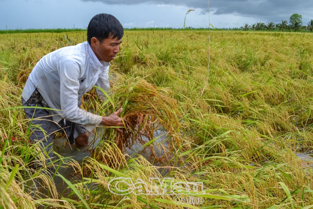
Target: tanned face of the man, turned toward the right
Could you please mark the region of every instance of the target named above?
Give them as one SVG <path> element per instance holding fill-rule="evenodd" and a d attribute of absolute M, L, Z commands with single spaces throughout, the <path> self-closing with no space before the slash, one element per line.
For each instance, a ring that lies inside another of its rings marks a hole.
<path fill-rule="evenodd" d="M 99 61 L 110 62 L 115 59 L 115 56 L 120 51 L 121 43 L 122 39 L 117 39 L 117 37 L 112 39 L 112 36 L 110 36 L 101 43 L 97 38 L 92 37 L 90 46 Z"/>

